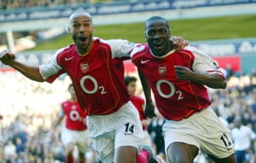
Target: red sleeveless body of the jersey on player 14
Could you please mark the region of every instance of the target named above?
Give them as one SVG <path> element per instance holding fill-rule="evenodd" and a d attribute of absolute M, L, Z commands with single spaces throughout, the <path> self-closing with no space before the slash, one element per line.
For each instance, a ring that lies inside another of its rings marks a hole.
<path fill-rule="evenodd" d="M 62 67 L 74 83 L 79 103 L 88 115 L 108 114 L 117 110 L 125 96 L 129 98 L 122 84 L 123 62 L 112 59 L 108 44 L 95 42 L 90 53 L 85 56 L 79 56 L 76 52 L 67 53 L 61 57 L 62 62 Z"/>

